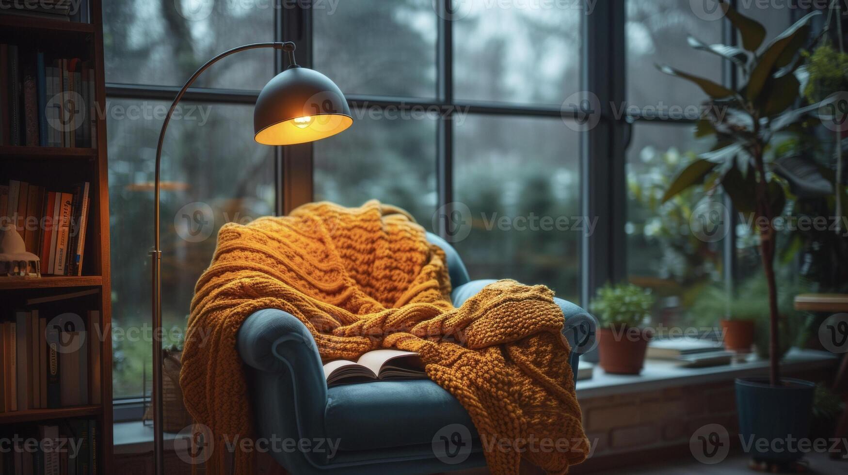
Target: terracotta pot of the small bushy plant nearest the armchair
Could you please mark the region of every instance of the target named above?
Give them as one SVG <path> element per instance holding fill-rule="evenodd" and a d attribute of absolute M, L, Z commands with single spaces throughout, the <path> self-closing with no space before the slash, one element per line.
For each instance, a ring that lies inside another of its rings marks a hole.
<path fill-rule="evenodd" d="M 600 367 L 616 374 L 639 374 L 650 338 L 650 331 L 637 327 L 600 328 Z"/>

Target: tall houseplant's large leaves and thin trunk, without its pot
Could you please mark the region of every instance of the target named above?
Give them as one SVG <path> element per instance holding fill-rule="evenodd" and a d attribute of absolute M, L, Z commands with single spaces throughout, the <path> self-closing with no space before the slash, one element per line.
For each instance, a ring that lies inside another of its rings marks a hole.
<path fill-rule="evenodd" d="M 760 237 L 762 267 L 768 284 L 769 310 L 769 382 L 780 385 L 779 312 L 777 285 L 774 277 L 776 232 L 771 223 L 784 208 L 784 184 L 766 163 L 766 150 L 773 137 L 789 130 L 815 113 L 823 103 L 794 108 L 801 95 L 801 82 L 795 73 L 801 67 L 801 48 L 806 46 L 810 20 L 820 12 L 807 14 L 795 25 L 763 46 L 765 28 L 756 20 L 739 14 L 728 3 L 720 3 L 725 16 L 739 30 L 741 48 L 708 45 L 689 36 L 696 50 L 717 54 L 735 64 L 745 81 L 738 89 L 717 84 L 709 79 L 675 70 L 667 65 L 658 68 L 694 82 L 709 97 L 708 115 L 697 123 L 696 137 L 716 137 L 710 152 L 700 155 L 675 178 L 663 200 L 702 184 L 713 191 L 721 187 L 731 198 L 734 208 L 753 215 L 752 223 Z"/>

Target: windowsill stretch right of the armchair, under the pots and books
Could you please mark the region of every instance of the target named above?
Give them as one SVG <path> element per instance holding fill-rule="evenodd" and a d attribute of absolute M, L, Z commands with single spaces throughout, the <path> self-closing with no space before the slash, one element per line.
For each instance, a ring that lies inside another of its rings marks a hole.
<path fill-rule="evenodd" d="M 819 369 L 834 365 L 838 356 L 813 349 L 790 349 L 780 367 L 784 372 Z M 737 377 L 764 375 L 768 360 L 751 355 L 750 360 L 723 366 L 683 368 L 674 361 L 645 360 L 642 374 L 607 374 L 594 366 L 591 379 L 577 381 L 577 398 L 598 398 L 612 394 L 631 394 L 689 384 L 732 381 Z"/>

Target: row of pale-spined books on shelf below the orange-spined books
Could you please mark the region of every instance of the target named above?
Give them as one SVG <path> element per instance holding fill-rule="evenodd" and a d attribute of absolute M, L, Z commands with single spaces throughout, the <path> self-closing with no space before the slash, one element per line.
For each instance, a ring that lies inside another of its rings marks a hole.
<path fill-rule="evenodd" d="M 0 322 L 0 412 L 55 409 L 100 403 L 98 333 L 86 332 L 75 313 L 49 305 L 98 293 L 84 290 L 29 299 L 25 310 L 16 310 Z M 33 308 L 31 305 L 48 304 Z M 88 321 L 99 321 L 99 312 L 82 312 Z M 5 318 L 5 316 L 4 316 Z"/>

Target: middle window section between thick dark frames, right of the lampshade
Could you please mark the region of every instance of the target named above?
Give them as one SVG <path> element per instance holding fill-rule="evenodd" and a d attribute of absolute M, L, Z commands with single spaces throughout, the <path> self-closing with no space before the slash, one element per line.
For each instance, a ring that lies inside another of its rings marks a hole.
<path fill-rule="evenodd" d="M 437 233 L 449 204 L 462 213 L 450 224 L 466 228 L 449 240 L 472 278 L 577 299 L 580 135 L 560 108 L 580 90 L 583 11 L 437 10 L 405 0 L 312 12 L 315 67 L 338 77 L 355 120 L 315 143 L 314 196 L 397 204 Z"/>

